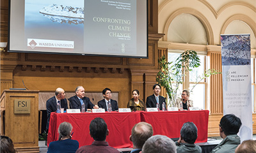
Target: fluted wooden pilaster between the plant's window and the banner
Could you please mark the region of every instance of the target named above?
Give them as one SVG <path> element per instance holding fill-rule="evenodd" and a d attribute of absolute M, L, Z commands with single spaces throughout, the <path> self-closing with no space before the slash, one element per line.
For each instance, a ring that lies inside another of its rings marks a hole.
<path fill-rule="evenodd" d="M 210 52 L 210 68 L 221 69 L 221 53 Z M 210 111 L 214 113 L 223 113 L 223 89 L 222 75 L 212 75 L 210 78 Z"/>

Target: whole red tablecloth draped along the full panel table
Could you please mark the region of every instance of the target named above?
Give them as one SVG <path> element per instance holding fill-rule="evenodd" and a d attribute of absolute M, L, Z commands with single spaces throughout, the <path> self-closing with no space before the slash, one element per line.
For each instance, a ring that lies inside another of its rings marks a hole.
<path fill-rule="evenodd" d="M 106 141 L 111 147 L 132 147 L 129 140 L 134 124 L 144 121 L 152 125 L 154 135 L 166 135 L 179 138 L 180 128 L 184 122 L 194 122 L 198 128 L 196 142 L 207 142 L 209 111 L 179 111 L 179 112 L 131 112 L 131 113 L 51 113 L 47 145 L 58 140 L 58 127 L 61 122 L 70 122 L 73 126 L 73 140 L 79 142 L 79 147 L 91 145 L 93 138 L 89 135 L 92 119 L 101 117 L 108 125 L 109 135 Z"/>

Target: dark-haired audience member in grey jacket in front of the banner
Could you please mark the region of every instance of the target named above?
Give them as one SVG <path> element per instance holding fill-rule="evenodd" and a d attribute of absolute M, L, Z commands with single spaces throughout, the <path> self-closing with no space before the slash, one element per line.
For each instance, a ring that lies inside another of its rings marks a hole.
<path fill-rule="evenodd" d="M 240 144 L 240 137 L 237 135 L 241 127 L 241 120 L 234 114 L 227 114 L 220 120 L 220 136 L 222 142 L 217 145 L 211 153 L 214 152 L 235 152 L 236 147 Z"/>

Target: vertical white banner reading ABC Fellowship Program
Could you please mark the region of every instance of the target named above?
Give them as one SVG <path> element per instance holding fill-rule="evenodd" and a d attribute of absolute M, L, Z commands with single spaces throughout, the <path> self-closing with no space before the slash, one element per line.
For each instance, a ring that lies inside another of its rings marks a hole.
<path fill-rule="evenodd" d="M 221 35 L 223 113 L 242 121 L 241 142 L 252 139 L 252 80 L 250 34 Z"/>

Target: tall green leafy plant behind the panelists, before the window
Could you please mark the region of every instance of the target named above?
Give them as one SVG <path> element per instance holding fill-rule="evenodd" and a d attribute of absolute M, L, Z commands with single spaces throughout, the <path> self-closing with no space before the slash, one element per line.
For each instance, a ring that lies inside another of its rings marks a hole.
<path fill-rule="evenodd" d="M 160 57 L 158 62 L 160 70 L 157 73 L 156 80 L 166 89 L 168 98 L 170 99 L 170 103 L 168 105 L 174 106 L 175 100 L 177 99 L 179 85 L 183 84 L 186 71 L 192 71 L 193 68 L 198 68 L 198 66 L 200 66 L 200 58 L 195 50 L 186 50 L 179 55 L 175 62 L 168 62 L 164 56 Z M 203 79 L 219 73 L 220 72 L 215 69 L 207 69 L 202 75 L 196 77 L 195 85 Z M 195 85 L 191 91 L 193 91 Z"/>

